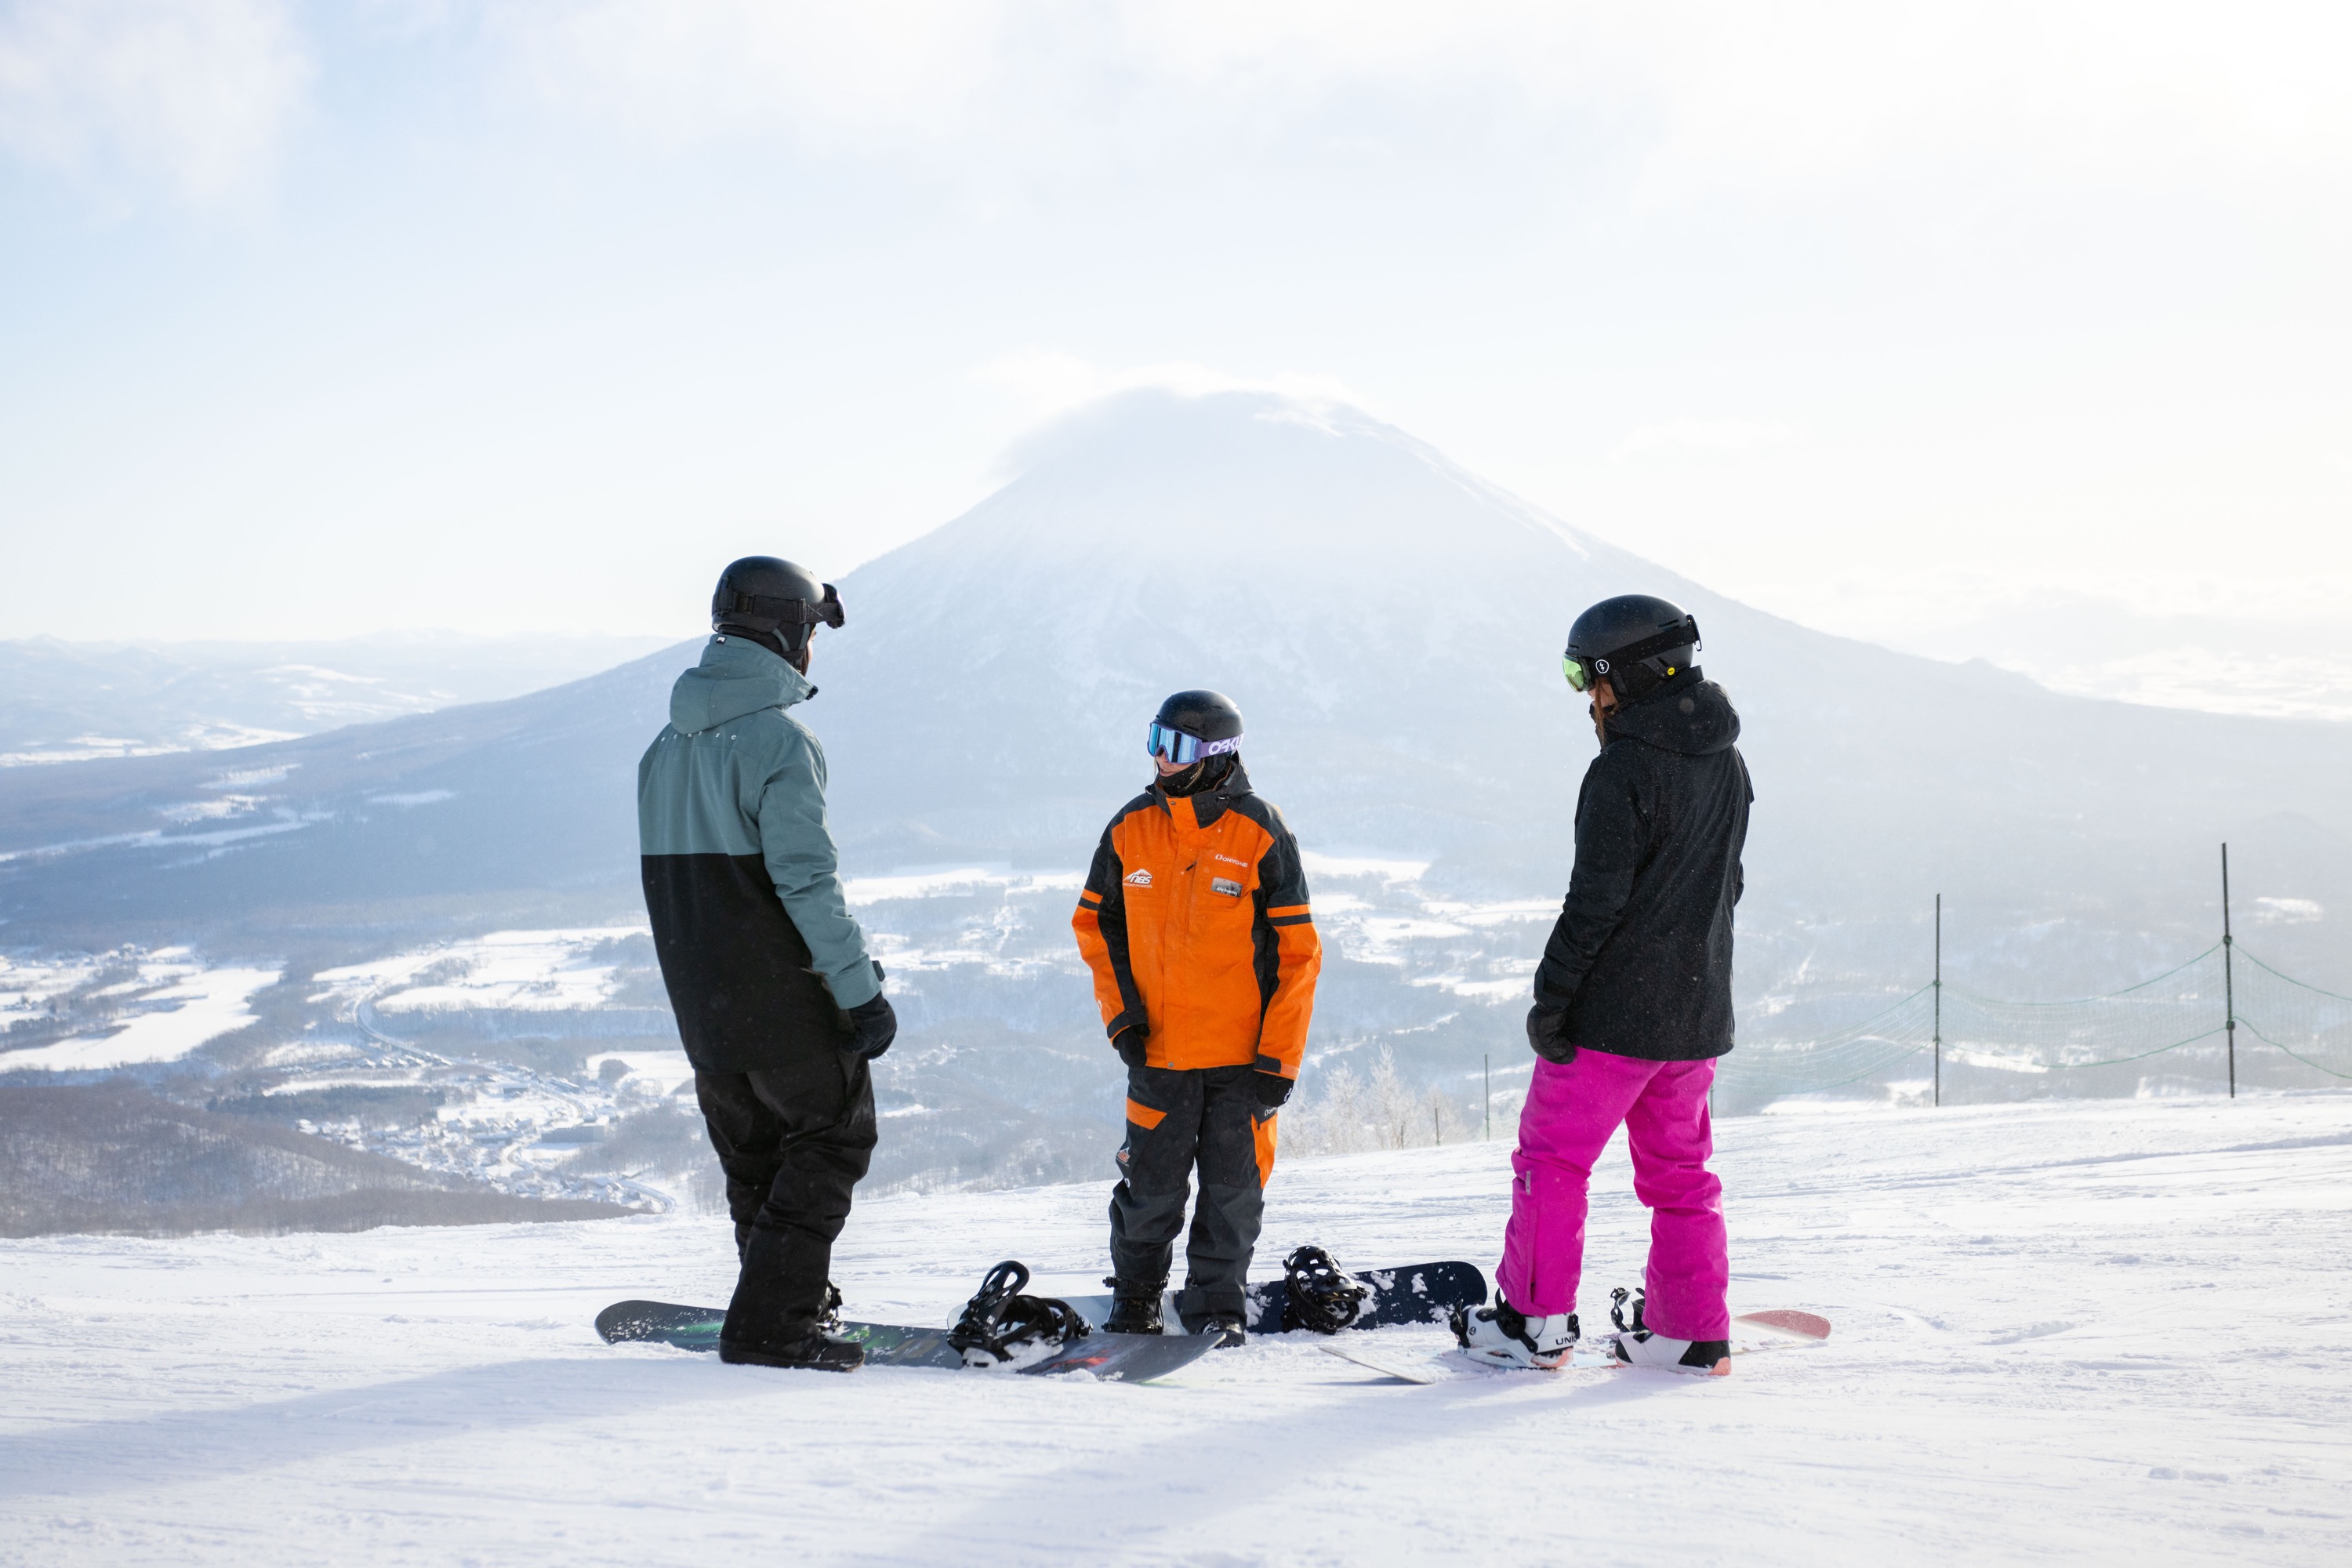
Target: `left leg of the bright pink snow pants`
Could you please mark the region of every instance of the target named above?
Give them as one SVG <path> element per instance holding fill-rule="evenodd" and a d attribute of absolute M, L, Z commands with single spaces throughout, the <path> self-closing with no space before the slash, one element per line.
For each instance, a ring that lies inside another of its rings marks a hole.
<path fill-rule="evenodd" d="M 1519 1147 L 1510 1157 L 1510 1225 L 1496 1288 L 1519 1312 L 1550 1316 L 1576 1309 L 1585 1267 L 1585 1187 L 1592 1161 L 1668 1063 L 1578 1051 L 1559 1067 L 1538 1060 L 1519 1107 Z"/>

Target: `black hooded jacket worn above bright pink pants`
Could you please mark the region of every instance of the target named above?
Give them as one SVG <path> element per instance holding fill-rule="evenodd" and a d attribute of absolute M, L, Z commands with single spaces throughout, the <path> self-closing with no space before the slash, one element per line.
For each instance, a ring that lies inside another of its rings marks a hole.
<path fill-rule="evenodd" d="M 1536 1006 L 1585 1051 L 1686 1063 L 1731 1048 L 1731 907 L 1748 842 L 1740 715 L 1696 668 L 1609 717 L 1576 797 L 1576 870 Z"/>

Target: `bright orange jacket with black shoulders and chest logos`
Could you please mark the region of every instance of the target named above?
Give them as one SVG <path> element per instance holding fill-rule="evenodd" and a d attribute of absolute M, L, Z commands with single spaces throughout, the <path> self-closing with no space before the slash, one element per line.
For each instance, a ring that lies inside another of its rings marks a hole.
<path fill-rule="evenodd" d="M 1322 943 L 1298 839 L 1240 762 L 1200 795 L 1120 806 L 1070 926 L 1103 1032 L 1150 1025 L 1145 1065 L 1298 1077 Z"/>

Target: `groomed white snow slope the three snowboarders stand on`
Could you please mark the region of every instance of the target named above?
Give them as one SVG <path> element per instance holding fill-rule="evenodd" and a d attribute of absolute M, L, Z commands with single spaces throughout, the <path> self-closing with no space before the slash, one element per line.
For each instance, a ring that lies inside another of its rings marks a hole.
<path fill-rule="evenodd" d="M 600 1345 L 609 1300 L 724 1298 L 708 1218 L 7 1241 L 0 1561 L 2352 1561 L 2352 1093 L 1717 1135 L 1733 1307 L 1837 1321 L 1726 1380 L 1404 1387 L 1308 1335 L 1160 1387 Z M 1505 1161 L 1294 1161 L 1261 1258 L 1491 1267 Z M 1597 1190 L 1588 1319 L 1644 1251 L 1618 1152 Z M 1091 1288 L 1101 1208 L 868 1201 L 837 1276 L 908 1321 L 1004 1255 Z"/>

